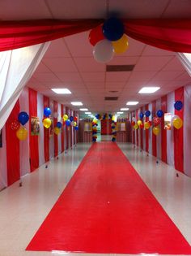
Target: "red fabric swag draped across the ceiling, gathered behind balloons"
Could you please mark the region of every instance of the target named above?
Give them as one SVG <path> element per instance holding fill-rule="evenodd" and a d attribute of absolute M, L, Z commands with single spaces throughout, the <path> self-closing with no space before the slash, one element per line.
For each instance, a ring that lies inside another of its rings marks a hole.
<path fill-rule="evenodd" d="M 103 22 L 104 20 L 1 21 L 0 51 L 81 33 Z M 191 19 L 134 19 L 123 22 L 125 33 L 129 37 L 163 50 L 191 53 Z"/>

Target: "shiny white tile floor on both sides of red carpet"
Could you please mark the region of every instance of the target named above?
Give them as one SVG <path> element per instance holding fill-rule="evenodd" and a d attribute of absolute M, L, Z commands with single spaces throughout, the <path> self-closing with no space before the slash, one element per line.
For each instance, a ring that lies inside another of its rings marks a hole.
<path fill-rule="evenodd" d="M 25 251 L 91 144 L 79 144 L 0 193 L 0 256 L 50 256 Z M 191 178 L 131 144 L 118 144 L 191 245 Z M 77 254 L 70 254 L 77 255 Z M 90 254 L 86 254 L 89 256 Z M 96 255 L 96 254 L 94 254 Z"/>

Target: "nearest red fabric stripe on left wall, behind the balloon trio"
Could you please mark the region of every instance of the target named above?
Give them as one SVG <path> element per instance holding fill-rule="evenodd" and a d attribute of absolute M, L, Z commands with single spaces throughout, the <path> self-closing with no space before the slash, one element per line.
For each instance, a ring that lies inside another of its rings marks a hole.
<path fill-rule="evenodd" d="M 16 102 L 11 115 L 6 120 L 6 164 L 7 164 L 7 184 L 13 184 L 20 178 L 20 152 L 19 139 L 16 131 L 11 129 L 11 124 L 18 119 L 19 101 Z M 22 141 L 20 141 L 22 143 Z"/>

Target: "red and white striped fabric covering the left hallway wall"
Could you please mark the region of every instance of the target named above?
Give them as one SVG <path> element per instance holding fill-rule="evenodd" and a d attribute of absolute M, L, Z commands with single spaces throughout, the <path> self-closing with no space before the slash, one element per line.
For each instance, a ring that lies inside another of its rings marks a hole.
<path fill-rule="evenodd" d="M 29 91 L 32 93 L 31 99 L 34 98 L 34 102 L 29 102 Z M 47 152 L 49 152 L 49 158 L 54 157 L 55 153 L 55 139 L 54 135 L 52 137 L 49 137 L 49 143 L 45 144 L 44 140 L 44 127 L 42 124 L 42 119 L 44 118 L 44 96 L 40 93 L 36 93 L 36 91 L 32 89 L 28 89 L 28 87 L 25 87 L 23 89 L 23 92 L 21 93 L 19 97 L 19 102 L 17 102 L 17 109 L 19 111 L 15 111 L 15 108 L 13 109 L 13 112 L 15 113 L 15 118 L 12 120 L 9 118 L 6 122 L 6 125 L 2 128 L 2 148 L 0 148 L 0 190 L 5 188 L 8 185 L 11 185 L 16 180 L 19 180 L 20 177 L 26 175 L 30 171 L 33 171 L 33 167 L 29 164 L 29 159 L 31 159 L 31 163 L 37 163 L 38 166 L 45 163 L 45 146 L 49 146 L 49 149 Z M 56 102 L 57 103 L 57 102 Z M 40 135 L 37 136 L 37 143 L 36 143 L 36 152 L 38 152 L 38 161 L 36 162 L 36 159 L 33 159 L 35 154 L 32 153 L 32 148 L 30 148 L 33 144 L 29 143 L 30 138 L 30 129 L 29 129 L 29 122 L 24 125 L 25 128 L 28 129 L 28 138 L 25 141 L 19 141 L 19 139 L 16 138 L 16 132 L 11 129 L 11 122 L 17 119 L 17 116 L 19 112 L 26 111 L 30 114 L 30 107 L 36 105 L 34 109 L 36 109 L 36 115 L 40 119 Z M 53 106 L 55 106 L 55 102 L 50 101 L 49 107 L 52 111 L 52 117 L 54 114 Z M 19 108 L 18 108 L 19 107 Z M 65 109 L 63 107 L 63 112 L 65 113 Z M 57 113 L 58 116 L 61 117 L 61 105 L 57 103 Z M 60 119 L 60 118 L 59 118 Z M 65 128 L 66 129 L 66 128 Z M 64 129 L 63 129 L 64 130 Z M 11 140 L 7 141 L 7 137 L 14 137 L 17 143 L 19 143 L 19 150 L 17 153 L 15 152 L 14 146 L 12 146 Z M 66 136 L 66 134 L 65 134 Z M 66 141 L 66 140 L 64 140 Z M 64 142 L 63 141 L 63 142 Z M 74 143 L 74 138 L 72 138 L 72 141 Z M 62 152 L 62 136 L 59 134 L 57 136 L 57 146 L 58 146 L 58 154 Z M 46 154 L 47 154 L 46 152 Z M 11 158 L 11 155 L 14 154 L 14 158 Z M 7 162 L 9 161 L 9 163 Z M 16 164 L 15 164 L 16 162 Z M 7 164 L 9 168 L 7 168 Z M 15 171 L 15 173 L 14 173 Z"/>

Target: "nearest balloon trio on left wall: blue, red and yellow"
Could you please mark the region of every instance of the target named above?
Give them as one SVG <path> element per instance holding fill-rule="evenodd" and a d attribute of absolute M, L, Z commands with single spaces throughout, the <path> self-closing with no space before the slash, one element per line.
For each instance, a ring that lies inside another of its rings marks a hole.
<path fill-rule="evenodd" d="M 16 131 L 16 137 L 18 137 L 20 141 L 24 141 L 28 137 L 28 130 L 23 126 L 24 124 L 28 123 L 28 120 L 29 120 L 28 113 L 22 111 L 18 115 L 18 121 L 15 120 L 11 124 L 11 129 Z M 20 126 L 20 124 L 22 126 Z"/>

